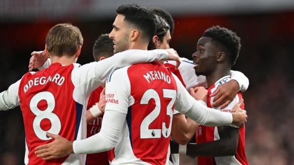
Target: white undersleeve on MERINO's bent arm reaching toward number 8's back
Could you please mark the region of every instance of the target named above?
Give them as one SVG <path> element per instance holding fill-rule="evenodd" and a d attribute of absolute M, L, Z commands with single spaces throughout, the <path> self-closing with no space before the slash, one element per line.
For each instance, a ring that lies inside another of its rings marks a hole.
<path fill-rule="evenodd" d="M 73 152 L 89 154 L 112 149 L 122 135 L 125 118 L 126 114 L 105 110 L 100 132 L 87 139 L 73 141 Z"/>

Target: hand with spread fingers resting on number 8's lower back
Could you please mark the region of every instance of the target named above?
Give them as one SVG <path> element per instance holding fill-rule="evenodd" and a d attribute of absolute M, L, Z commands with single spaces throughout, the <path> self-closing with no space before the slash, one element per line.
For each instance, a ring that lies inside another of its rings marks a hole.
<path fill-rule="evenodd" d="M 50 138 L 54 138 L 54 141 L 36 147 L 35 154 L 37 157 L 42 157 L 43 160 L 50 160 L 73 153 L 73 141 L 68 141 L 59 135 L 49 132 L 46 132 L 46 135 Z"/>

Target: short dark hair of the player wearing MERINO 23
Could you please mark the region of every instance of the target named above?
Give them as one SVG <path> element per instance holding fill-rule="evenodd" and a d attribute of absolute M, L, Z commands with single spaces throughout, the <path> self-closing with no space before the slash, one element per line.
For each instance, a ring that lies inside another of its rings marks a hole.
<path fill-rule="evenodd" d="M 149 42 L 156 30 L 155 16 L 152 11 L 139 4 L 123 4 L 117 9 L 124 16 L 124 21 L 133 24 L 142 31 L 142 36 Z"/>

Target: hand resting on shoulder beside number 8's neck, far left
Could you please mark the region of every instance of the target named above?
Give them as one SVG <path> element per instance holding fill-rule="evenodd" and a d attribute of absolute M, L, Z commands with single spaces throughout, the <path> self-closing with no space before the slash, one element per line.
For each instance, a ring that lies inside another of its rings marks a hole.
<path fill-rule="evenodd" d="M 31 53 L 31 58 L 29 59 L 28 71 L 32 71 L 33 69 L 40 68 L 47 61 L 48 56 L 46 51 L 33 51 Z"/>

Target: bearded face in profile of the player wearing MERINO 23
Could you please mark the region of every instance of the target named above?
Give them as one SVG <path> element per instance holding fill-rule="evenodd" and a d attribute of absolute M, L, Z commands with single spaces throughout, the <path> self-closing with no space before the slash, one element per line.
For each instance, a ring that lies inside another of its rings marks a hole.
<path fill-rule="evenodd" d="M 128 32 L 129 28 L 125 23 L 124 16 L 118 14 L 113 23 L 113 29 L 109 33 L 109 37 L 113 39 L 114 43 L 114 53 L 118 53 L 124 50 L 129 49 L 129 40 L 128 40 Z"/>

